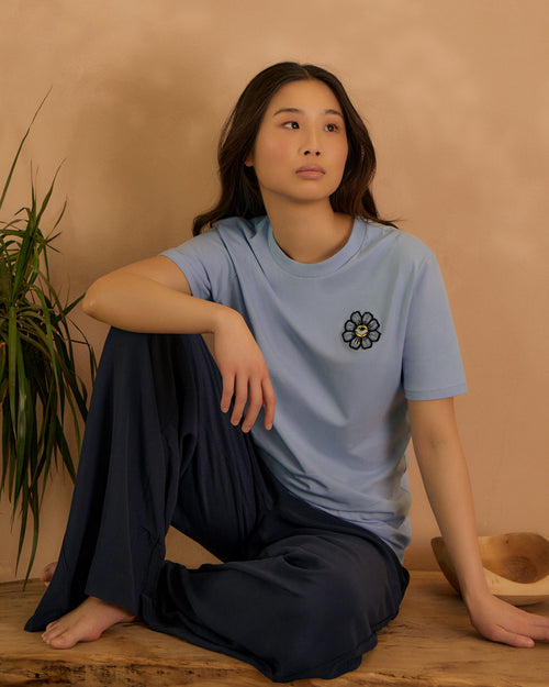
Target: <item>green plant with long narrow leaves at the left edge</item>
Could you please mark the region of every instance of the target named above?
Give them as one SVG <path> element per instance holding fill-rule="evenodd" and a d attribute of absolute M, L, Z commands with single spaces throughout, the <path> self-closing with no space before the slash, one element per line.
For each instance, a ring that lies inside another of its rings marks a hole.
<path fill-rule="evenodd" d="M 47 96 L 46 96 L 47 97 Z M 45 100 L 45 99 L 44 99 Z M 20 142 L 0 196 L 0 210 L 21 151 L 42 104 Z M 36 198 L 31 169 L 31 202 L 9 221 L 0 221 L 0 415 L 2 476 L 0 494 L 12 503 L 12 522 L 21 514 L 16 566 L 33 521 L 33 539 L 25 580 L 36 554 L 40 510 L 52 463 L 75 478 L 75 464 L 66 434 L 71 419 L 77 448 L 80 421 L 87 415 L 87 390 L 77 374 L 74 344 L 87 347 L 91 377 L 96 357 L 88 340 L 69 314 L 81 299 L 61 302 L 49 278 L 48 253 L 66 203 L 49 235 L 42 230 L 57 169 L 42 201 Z M 75 339 L 77 330 L 80 337 Z"/>

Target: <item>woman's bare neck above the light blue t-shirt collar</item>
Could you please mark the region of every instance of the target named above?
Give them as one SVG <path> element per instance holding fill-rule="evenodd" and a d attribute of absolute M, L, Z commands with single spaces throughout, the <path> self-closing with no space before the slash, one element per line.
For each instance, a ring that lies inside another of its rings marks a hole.
<path fill-rule="evenodd" d="M 340 251 L 352 230 L 352 218 L 332 210 L 329 201 L 269 207 L 274 241 L 298 263 L 321 263 Z"/>

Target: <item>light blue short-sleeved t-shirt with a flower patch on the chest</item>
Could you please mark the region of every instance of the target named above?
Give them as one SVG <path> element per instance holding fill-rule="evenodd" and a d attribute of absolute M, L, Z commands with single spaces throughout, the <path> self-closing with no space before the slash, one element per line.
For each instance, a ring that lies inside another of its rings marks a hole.
<path fill-rule="evenodd" d="M 433 253 L 400 230 L 355 220 L 315 264 L 289 258 L 268 218 L 231 218 L 164 253 L 198 298 L 240 312 L 277 395 L 272 430 L 251 433 L 298 497 L 366 528 L 402 561 L 411 540 L 406 399 L 467 390 Z"/>

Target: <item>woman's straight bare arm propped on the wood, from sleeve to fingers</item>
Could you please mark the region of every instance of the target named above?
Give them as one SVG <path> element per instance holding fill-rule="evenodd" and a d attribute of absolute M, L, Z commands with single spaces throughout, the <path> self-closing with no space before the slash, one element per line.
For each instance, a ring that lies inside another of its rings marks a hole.
<path fill-rule="evenodd" d="M 517 609 L 492 596 L 488 588 L 453 399 L 410 401 L 408 408 L 422 478 L 471 622 L 485 638 L 513 646 L 549 640 L 549 619 Z"/>

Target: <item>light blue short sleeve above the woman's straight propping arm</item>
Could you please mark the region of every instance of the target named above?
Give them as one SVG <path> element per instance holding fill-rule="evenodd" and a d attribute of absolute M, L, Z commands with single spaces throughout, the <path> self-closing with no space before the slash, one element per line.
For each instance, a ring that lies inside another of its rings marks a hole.
<path fill-rule="evenodd" d="M 403 353 L 403 386 L 408 400 L 464 394 L 466 376 L 448 296 L 433 254 L 415 279 Z"/>

